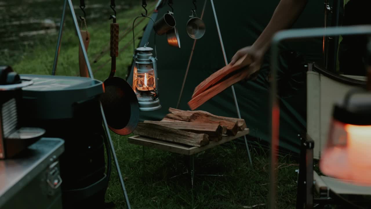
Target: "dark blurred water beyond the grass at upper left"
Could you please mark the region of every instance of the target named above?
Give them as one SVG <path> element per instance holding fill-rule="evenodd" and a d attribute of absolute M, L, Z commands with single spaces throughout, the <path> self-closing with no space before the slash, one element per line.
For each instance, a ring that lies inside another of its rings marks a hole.
<path fill-rule="evenodd" d="M 83 16 L 80 1 L 72 0 L 76 17 Z M 139 0 L 115 1 L 117 12 L 130 9 Z M 113 12 L 109 0 L 85 0 L 86 19 L 89 22 L 107 21 Z M 63 0 L 0 0 L 0 56 L 17 54 L 25 47 L 32 47 L 38 35 L 58 33 Z M 69 7 L 66 22 L 71 21 Z M 1 58 L 0 58 L 1 60 Z"/>

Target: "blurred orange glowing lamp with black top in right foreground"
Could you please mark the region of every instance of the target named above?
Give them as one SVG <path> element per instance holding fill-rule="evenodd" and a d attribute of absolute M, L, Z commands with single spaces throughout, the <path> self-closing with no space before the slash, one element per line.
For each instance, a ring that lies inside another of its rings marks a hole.
<path fill-rule="evenodd" d="M 321 171 L 336 179 L 371 186 L 371 93 L 350 91 L 334 106 Z"/>

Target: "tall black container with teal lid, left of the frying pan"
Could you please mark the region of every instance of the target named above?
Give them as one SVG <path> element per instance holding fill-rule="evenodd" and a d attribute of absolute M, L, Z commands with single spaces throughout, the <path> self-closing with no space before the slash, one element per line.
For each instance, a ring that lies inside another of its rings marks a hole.
<path fill-rule="evenodd" d="M 65 141 L 60 157 L 63 208 L 102 208 L 108 186 L 99 101 L 103 82 L 56 75 L 20 77 L 33 81 L 22 89 L 22 124 Z"/>

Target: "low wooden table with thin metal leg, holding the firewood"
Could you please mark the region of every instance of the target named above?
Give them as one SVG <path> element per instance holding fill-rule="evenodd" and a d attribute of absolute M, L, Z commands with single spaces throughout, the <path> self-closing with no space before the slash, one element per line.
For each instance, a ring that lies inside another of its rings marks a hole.
<path fill-rule="evenodd" d="M 128 142 L 131 144 L 141 145 L 143 147 L 150 147 L 155 149 L 161 149 L 168 152 L 175 152 L 178 154 L 188 155 L 190 156 L 190 170 L 191 170 L 191 181 L 193 187 L 193 180 L 194 180 L 194 154 L 198 152 L 205 151 L 207 149 L 216 147 L 218 145 L 224 144 L 226 142 L 232 141 L 233 139 L 240 138 L 244 135 L 249 134 L 250 129 L 246 128 L 243 131 L 237 132 L 235 136 L 223 136 L 220 141 L 210 141 L 209 144 L 204 145 L 202 147 L 192 147 L 189 145 L 178 144 L 175 142 L 170 141 L 163 141 L 160 139 L 152 139 L 141 135 L 131 136 L 128 139 Z"/>

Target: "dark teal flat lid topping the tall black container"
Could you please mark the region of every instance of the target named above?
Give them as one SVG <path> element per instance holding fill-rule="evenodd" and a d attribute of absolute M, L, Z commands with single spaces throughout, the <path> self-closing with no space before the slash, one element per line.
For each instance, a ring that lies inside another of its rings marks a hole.
<path fill-rule="evenodd" d="M 36 119 L 73 118 L 74 105 L 98 97 L 103 82 L 86 77 L 20 75 L 33 84 L 22 88 L 24 112 Z"/>

